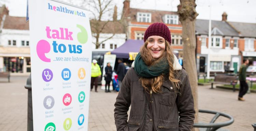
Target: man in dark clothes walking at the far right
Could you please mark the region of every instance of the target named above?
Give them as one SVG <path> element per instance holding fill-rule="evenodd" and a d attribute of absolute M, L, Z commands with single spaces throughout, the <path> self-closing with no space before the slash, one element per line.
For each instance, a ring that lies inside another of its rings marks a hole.
<path fill-rule="evenodd" d="M 240 81 L 240 89 L 238 94 L 238 100 L 244 101 L 243 96 L 246 94 L 248 90 L 248 85 L 246 83 L 246 69 L 249 63 L 248 59 L 243 60 L 243 64 L 239 69 L 239 81 Z"/>

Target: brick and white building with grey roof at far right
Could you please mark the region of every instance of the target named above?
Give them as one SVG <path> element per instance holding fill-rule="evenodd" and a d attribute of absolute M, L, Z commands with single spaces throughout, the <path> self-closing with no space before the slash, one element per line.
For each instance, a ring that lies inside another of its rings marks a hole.
<path fill-rule="evenodd" d="M 208 48 L 209 20 L 196 20 L 197 70 L 207 72 L 207 58 L 210 58 L 210 72 L 239 71 L 243 58 L 249 58 L 256 65 L 256 24 L 228 22 L 224 12 L 222 21 L 212 20 L 210 49 Z"/>

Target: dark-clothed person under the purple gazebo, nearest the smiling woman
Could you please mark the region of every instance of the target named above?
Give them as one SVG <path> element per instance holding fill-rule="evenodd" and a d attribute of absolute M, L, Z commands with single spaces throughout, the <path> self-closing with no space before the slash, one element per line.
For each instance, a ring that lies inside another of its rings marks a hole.
<path fill-rule="evenodd" d="M 118 59 L 118 66 L 117 66 L 117 70 L 116 70 L 116 74 L 118 76 L 119 88 L 121 88 L 122 81 L 125 77 L 125 65 L 124 65 L 123 61 L 124 60 L 122 58 Z"/>

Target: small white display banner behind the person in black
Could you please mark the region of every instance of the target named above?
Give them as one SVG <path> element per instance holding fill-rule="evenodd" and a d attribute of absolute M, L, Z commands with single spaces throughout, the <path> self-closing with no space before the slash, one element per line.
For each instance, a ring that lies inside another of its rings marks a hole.
<path fill-rule="evenodd" d="M 104 55 L 103 71 L 102 71 L 103 75 L 102 76 L 104 76 L 104 74 L 105 74 L 105 67 L 106 67 L 108 62 L 110 62 L 110 66 L 112 67 L 112 71 L 114 71 L 115 61 L 116 61 L 116 55 L 107 55 L 107 54 Z M 102 90 L 105 90 L 105 84 L 106 84 L 106 81 L 104 80 L 104 77 L 103 77 L 102 81 L 101 81 L 101 89 Z M 110 90 L 113 90 L 112 86 L 110 87 Z"/>

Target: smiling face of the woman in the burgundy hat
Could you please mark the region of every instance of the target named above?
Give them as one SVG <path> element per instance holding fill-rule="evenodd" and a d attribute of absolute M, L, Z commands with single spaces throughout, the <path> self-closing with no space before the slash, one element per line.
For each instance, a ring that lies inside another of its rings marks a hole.
<path fill-rule="evenodd" d="M 147 49 L 152 57 L 159 58 L 165 51 L 165 39 L 161 36 L 150 36 L 147 41 Z"/>

